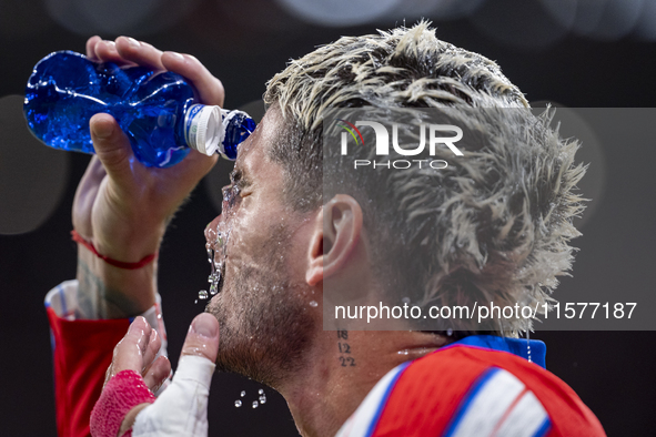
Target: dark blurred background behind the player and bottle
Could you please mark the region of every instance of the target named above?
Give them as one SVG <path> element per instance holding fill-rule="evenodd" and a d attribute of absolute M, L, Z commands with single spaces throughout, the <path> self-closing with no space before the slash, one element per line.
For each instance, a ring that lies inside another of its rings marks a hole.
<path fill-rule="evenodd" d="M 26 133 L 16 95 L 39 59 L 55 50 L 83 52 L 92 34 L 132 34 L 196 55 L 223 81 L 225 106 L 239 108 L 259 100 L 265 81 L 290 58 L 340 35 L 390 29 L 404 19 L 411 24 L 421 16 L 433 21 L 438 38 L 496 60 L 532 102 L 654 105 L 652 0 L 0 0 L 0 434 L 55 435 L 43 297 L 74 277 L 70 211 L 89 161 L 34 145 Z M 596 293 L 627 302 L 627 293 L 656 291 L 656 150 L 649 141 L 598 140 L 582 151 L 595 196 L 581 223 L 584 236 L 575 241 L 581 252 L 574 276 L 555 294 L 564 302 Z M 189 323 L 202 311 L 194 304 L 209 274 L 202 231 L 219 213 L 211 199 L 229 167 L 223 163 L 199 185 L 163 242 L 159 283 L 173 364 Z M 547 367 L 578 393 L 609 436 L 656 435 L 655 333 L 538 329 L 533 337 L 547 342 Z M 242 389 L 253 400 L 259 388 L 215 375 L 210 434 L 296 435 L 284 400 L 270 388 L 258 409 L 250 403 L 234 407 Z"/>

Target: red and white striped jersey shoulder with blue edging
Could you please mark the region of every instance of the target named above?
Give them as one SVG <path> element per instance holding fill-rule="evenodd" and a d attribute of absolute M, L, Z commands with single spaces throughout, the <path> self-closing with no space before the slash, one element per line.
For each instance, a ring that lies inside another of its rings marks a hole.
<path fill-rule="evenodd" d="M 555 375 L 507 352 L 464 345 L 390 372 L 346 425 L 353 434 L 343 436 L 352 437 L 605 435 Z"/>

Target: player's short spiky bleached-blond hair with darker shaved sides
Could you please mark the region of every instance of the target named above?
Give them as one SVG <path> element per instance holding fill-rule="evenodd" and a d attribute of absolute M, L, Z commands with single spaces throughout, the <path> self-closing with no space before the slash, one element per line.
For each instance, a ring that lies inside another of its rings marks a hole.
<path fill-rule="evenodd" d="M 579 235 L 572 218 L 583 210 L 573 190 L 585 167 L 574 164 L 578 143 L 551 128 L 553 112 L 534 116 L 495 62 L 438 40 L 422 21 L 344 37 L 291 61 L 269 81 L 264 101 L 284 119 L 271 156 L 287 173 L 284 192 L 295 209 L 320 206 L 323 181 L 342 181 L 333 191 L 360 192 L 361 201 L 367 190 L 384 187 L 387 206 L 361 202 L 365 228 L 367 223 L 385 227 L 381 221 L 391 217 L 387 232 L 377 233 L 377 264 L 381 272 L 412 272 L 413 278 L 395 286 L 412 284 L 414 302 L 471 306 L 474 296 L 478 305 L 529 305 L 538 316 L 544 313 L 557 276 L 572 266 L 568 242 Z M 462 122 L 490 141 L 465 149 L 457 165 L 440 171 L 379 172 L 373 182 L 329 177 L 321 143 L 324 114 L 362 106 L 462 108 Z M 532 328 L 522 317 L 496 319 L 484 329 L 467 321 L 448 323 L 445 331 L 470 333 L 516 335 Z"/>

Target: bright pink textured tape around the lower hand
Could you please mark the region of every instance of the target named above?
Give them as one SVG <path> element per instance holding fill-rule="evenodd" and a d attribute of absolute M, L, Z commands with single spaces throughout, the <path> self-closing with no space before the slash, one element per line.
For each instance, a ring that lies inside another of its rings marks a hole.
<path fill-rule="evenodd" d="M 90 430 L 93 437 L 117 437 L 123 418 L 139 404 L 152 404 L 154 395 L 148 389 L 141 375 L 123 370 L 107 383 L 91 411 Z M 123 436 L 132 435 L 131 431 Z"/>

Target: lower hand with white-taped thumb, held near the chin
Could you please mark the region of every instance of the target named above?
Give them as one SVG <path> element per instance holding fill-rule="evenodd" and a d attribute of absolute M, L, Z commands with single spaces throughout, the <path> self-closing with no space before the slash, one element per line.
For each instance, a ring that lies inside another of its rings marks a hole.
<path fill-rule="evenodd" d="M 153 360 L 159 348 L 159 337 L 154 332 L 143 317 L 134 319 L 125 337 L 114 348 L 105 386 L 118 373 L 132 370 L 143 377 L 151 392 L 158 389 L 166 379 L 171 366 L 164 357 Z M 134 405 L 122 418 L 118 435 L 133 428 L 134 436 L 139 436 L 140 429 L 152 434 L 206 436 L 208 397 L 218 350 L 219 322 L 208 313 L 198 315 L 186 334 L 173 382 L 153 404 Z M 105 389 L 111 392 L 111 384 L 103 387 L 103 392 Z M 103 393 L 99 400 L 101 405 L 97 405 L 91 415 L 92 431 L 103 430 L 111 423 L 111 417 L 108 417 L 111 408 L 107 408 L 107 404 L 115 402 L 117 396 L 130 398 L 119 393 Z M 115 427 L 119 425 L 115 424 Z"/>

